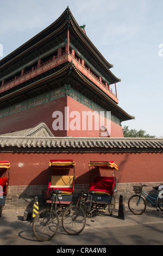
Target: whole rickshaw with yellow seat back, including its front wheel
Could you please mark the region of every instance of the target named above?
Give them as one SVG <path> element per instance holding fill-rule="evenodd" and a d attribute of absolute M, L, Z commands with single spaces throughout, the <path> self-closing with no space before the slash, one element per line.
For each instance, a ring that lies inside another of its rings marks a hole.
<path fill-rule="evenodd" d="M 51 240 L 57 234 L 59 212 L 72 203 L 75 165 L 73 160 L 49 161 L 48 188 L 42 191 L 48 208 L 41 210 L 32 224 L 33 234 L 40 241 Z"/>

